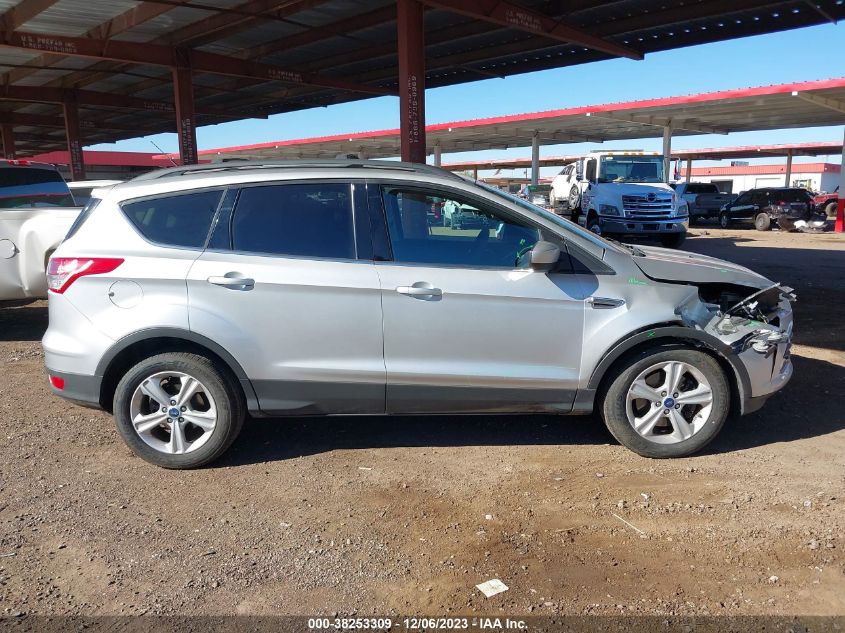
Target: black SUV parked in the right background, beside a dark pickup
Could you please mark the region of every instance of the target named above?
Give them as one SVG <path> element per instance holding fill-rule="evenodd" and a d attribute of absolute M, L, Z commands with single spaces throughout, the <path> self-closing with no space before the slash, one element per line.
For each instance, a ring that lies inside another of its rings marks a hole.
<path fill-rule="evenodd" d="M 737 222 L 752 222 L 758 231 L 773 225 L 790 230 L 798 220 L 809 220 L 815 209 L 813 197 L 797 187 L 749 189 L 719 212 L 719 224 L 728 228 Z"/>

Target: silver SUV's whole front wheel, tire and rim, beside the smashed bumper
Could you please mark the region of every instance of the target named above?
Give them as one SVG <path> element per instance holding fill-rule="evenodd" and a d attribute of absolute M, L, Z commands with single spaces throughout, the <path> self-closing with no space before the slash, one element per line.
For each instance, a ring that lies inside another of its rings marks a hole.
<path fill-rule="evenodd" d="M 619 365 L 601 411 L 620 444 L 644 457 L 683 457 L 706 446 L 730 409 L 719 363 L 698 350 L 646 349 Z"/>

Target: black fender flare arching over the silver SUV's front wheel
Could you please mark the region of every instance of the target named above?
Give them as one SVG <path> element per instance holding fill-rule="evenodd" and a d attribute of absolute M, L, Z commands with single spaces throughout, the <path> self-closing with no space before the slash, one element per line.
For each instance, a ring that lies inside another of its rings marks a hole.
<path fill-rule="evenodd" d="M 704 347 L 710 352 L 718 355 L 718 357 L 724 360 L 733 370 L 734 377 L 736 378 L 737 390 L 739 392 L 738 396 L 740 403 L 746 402 L 751 397 L 751 381 L 748 377 L 748 371 L 737 358 L 733 348 L 712 334 L 708 334 L 707 332 L 702 332 L 700 330 L 693 330 L 681 325 L 660 325 L 647 328 L 630 334 L 624 339 L 614 343 L 614 345 L 599 361 L 599 364 L 596 365 L 596 368 L 590 376 L 587 388 L 598 389 L 607 374 L 607 371 L 613 366 L 613 364 L 625 353 L 638 345 L 651 342 L 665 343 L 672 340 L 685 341 L 696 347 Z"/>

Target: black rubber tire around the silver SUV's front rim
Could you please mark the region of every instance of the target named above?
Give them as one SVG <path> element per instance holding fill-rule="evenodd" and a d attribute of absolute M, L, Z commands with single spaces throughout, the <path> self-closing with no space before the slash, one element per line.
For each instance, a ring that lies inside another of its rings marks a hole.
<path fill-rule="evenodd" d="M 669 361 L 687 363 L 704 374 L 710 383 L 713 404 L 704 426 L 692 437 L 674 444 L 658 444 L 637 433 L 628 422 L 627 394 L 641 372 Z M 604 423 L 620 444 L 643 457 L 667 459 L 700 451 L 719 434 L 730 412 L 730 387 L 722 367 L 712 356 L 682 346 L 650 347 L 629 356 L 611 369 L 604 384 L 606 388 L 599 394 Z"/>

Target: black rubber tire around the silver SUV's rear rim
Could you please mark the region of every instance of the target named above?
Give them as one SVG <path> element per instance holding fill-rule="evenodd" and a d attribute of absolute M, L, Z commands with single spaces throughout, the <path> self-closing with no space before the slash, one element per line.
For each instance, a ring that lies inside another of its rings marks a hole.
<path fill-rule="evenodd" d="M 144 442 L 135 432 L 129 413 L 132 396 L 141 382 L 166 371 L 178 371 L 196 378 L 217 405 L 217 421 L 209 439 L 195 451 L 181 455 L 155 450 Z M 198 468 L 219 458 L 238 437 L 246 418 L 243 392 L 228 368 L 186 352 L 158 354 L 134 365 L 117 385 L 113 410 L 117 430 L 132 452 L 151 464 L 172 469 Z"/>

